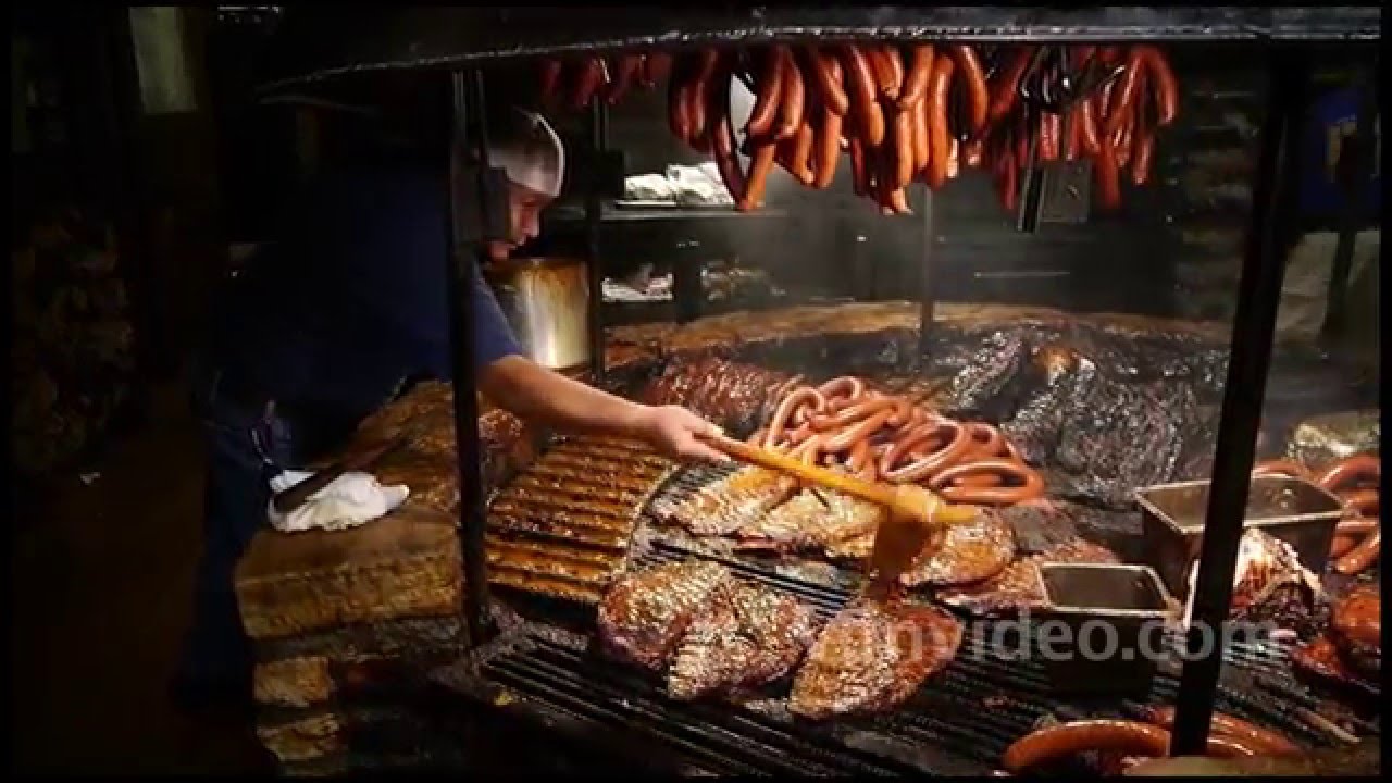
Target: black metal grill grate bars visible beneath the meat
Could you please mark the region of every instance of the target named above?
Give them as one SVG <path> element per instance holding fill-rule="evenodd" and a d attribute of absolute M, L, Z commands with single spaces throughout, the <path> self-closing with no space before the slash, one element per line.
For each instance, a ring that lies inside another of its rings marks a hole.
<path fill-rule="evenodd" d="M 711 465 L 677 471 L 654 489 L 644 513 L 728 472 Z M 806 603 L 823 619 L 852 598 L 862 578 L 839 568 L 806 578 L 785 563 L 720 552 L 709 541 L 686 539 L 647 525 L 632 553 L 646 568 L 693 557 L 715 560 L 739 578 L 767 585 Z M 624 743 L 629 752 L 654 745 L 699 770 L 721 775 L 983 775 L 1005 748 L 1045 719 L 1134 718 L 1140 704 L 1118 698 L 1059 698 L 1038 656 L 1011 655 L 995 624 L 970 619 L 954 662 L 888 715 L 828 723 L 795 719 L 786 709 L 786 684 L 768 698 L 729 705 L 675 702 L 660 679 L 611 662 L 589 648 L 586 635 L 553 626 L 525 624 L 512 639 L 479 651 L 468 662 L 436 673 L 450 690 L 493 694 L 548 726 L 569 726 L 589 737 Z M 1171 651 L 1183 638 L 1165 639 Z M 1034 649 L 1034 648 L 1027 648 Z M 1302 713 L 1318 701 L 1293 681 L 1288 649 L 1278 641 L 1235 641 L 1225 663 L 1215 708 L 1276 729 L 1310 747 L 1332 744 Z M 1173 702 L 1179 659 L 1162 660 L 1147 704 Z M 777 694 L 777 695 L 773 695 Z M 600 731 L 594 731 L 600 729 Z M 622 748 L 617 748 L 622 750 Z"/>

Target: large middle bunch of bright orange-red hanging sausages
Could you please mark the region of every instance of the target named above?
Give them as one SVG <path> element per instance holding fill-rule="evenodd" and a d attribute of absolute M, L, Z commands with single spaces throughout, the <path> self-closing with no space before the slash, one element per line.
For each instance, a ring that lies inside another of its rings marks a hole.
<path fill-rule="evenodd" d="M 725 89 L 732 77 L 754 93 L 738 145 Z M 856 195 L 884 215 L 908 215 L 910 183 L 938 188 L 960 169 L 947 111 L 949 96 L 959 93 L 969 132 L 984 134 L 986 74 L 965 45 L 706 50 L 674 64 L 668 124 L 678 139 L 714 157 L 741 210 L 763 205 L 774 164 L 825 189 L 845 153 Z M 739 152 L 749 157 L 748 169 Z"/>

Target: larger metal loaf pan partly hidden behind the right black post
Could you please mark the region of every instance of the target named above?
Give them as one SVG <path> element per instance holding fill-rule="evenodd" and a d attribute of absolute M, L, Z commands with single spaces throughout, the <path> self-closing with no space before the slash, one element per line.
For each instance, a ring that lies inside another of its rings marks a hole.
<path fill-rule="evenodd" d="M 1207 479 L 1182 481 L 1136 492 L 1147 564 L 1179 599 L 1189 595 L 1187 574 L 1203 545 L 1208 486 Z M 1343 502 L 1310 481 L 1260 475 L 1251 478 L 1243 528 L 1261 528 L 1285 541 L 1306 568 L 1322 574 L 1342 515 Z"/>

